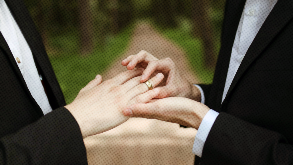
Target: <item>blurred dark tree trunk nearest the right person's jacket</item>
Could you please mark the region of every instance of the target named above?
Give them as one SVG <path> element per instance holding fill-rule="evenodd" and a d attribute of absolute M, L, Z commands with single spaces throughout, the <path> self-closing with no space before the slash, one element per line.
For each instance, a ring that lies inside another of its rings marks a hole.
<path fill-rule="evenodd" d="M 209 16 L 210 0 L 193 1 L 194 36 L 202 38 L 204 44 L 204 65 L 213 69 L 216 65 L 214 35 Z"/>

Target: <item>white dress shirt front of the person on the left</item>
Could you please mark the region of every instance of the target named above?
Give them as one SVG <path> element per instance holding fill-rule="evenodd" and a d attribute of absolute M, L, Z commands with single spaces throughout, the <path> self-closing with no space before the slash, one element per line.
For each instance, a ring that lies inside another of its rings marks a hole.
<path fill-rule="evenodd" d="M 33 54 L 4 0 L 0 0 L 0 31 L 13 54 L 31 95 L 41 107 L 44 115 L 51 112 L 52 108 L 35 66 Z"/>

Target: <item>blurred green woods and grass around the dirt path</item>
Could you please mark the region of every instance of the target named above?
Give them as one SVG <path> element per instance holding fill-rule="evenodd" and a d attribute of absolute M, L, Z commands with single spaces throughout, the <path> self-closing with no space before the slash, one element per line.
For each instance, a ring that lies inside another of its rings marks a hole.
<path fill-rule="evenodd" d="M 225 0 L 25 0 L 25 4 L 67 104 L 125 52 L 141 21 L 177 43 L 200 80 L 212 82 Z"/>

